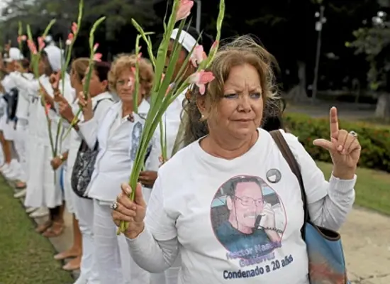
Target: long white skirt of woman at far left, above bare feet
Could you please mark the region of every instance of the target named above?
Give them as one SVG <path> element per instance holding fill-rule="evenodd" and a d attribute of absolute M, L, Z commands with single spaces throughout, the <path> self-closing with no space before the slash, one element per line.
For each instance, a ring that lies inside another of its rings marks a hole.
<path fill-rule="evenodd" d="M 44 146 L 39 141 L 40 139 L 36 137 L 29 139 L 29 179 L 24 204 L 26 207 L 54 208 L 60 206 L 63 200 L 60 187 L 61 172 L 60 170 L 55 172 L 52 170 L 50 146 Z"/>

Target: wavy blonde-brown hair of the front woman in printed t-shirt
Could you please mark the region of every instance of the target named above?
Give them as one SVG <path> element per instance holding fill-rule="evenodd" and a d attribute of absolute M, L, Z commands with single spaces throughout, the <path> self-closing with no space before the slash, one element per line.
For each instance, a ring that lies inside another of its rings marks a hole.
<path fill-rule="evenodd" d="M 244 64 L 252 65 L 259 74 L 264 111 L 266 109 L 276 111 L 275 107 L 267 108 L 266 105 L 279 100 L 274 75 L 274 67 L 279 69 L 277 60 L 265 48 L 256 43 L 250 35 L 240 36 L 232 42 L 222 45 L 216 53 L 216 57 L 207 70 L 213 72 L 215 79 L 207 85 L 206 94 L 201 95 L 199 89 L 194 87 L 186 96 L 183 117 L 185 127 L 182 141 L 184 146 L 208 134 L 206 121 L 201 119 L 201 113 L 196 104 L 199 97 L 204 97 L 210 102 L 211 111 L 213 111 L 216 104 L 223 98 L 224 84 L 228 80 L 230 70 Z M 263 114 L 263 117 L 265 116 L 267 116 L 266 113 Z"/>

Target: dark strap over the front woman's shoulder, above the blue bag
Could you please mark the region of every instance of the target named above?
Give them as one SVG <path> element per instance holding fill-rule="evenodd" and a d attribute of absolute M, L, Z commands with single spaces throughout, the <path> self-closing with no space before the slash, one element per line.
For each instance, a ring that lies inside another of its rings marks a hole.
<path fill-rule="evenodd" d="M 299 182 L 299 187 L 301 187 L 301 197 L 302 197 L 302 202 L 303 202 L 303 213 L 304 213 L 304 215 L 303 215 L 304 216 L 303 228 L 304 228 L 304 224 L 306 224 L 306 222 L 309 221 L 310 217 L 308 215 L 306 191 L 305 191 L 305 186 L 303 185 L 301 169 L 299 168 L 299 164 L 296 162 L 296 158 L 294 157 L 294 154 L 291 152 L 289 145 L 287 144 L 286 140 L 284 139 L 282 132 L 280 132 L 279 130 L 274 130 L 274 131 L 271 131 L 269 133 L 271 134 L 272 138 L 274 138 L 274 141 L 277 144 L 284 159 L 289 164 L 291 171 L 296 176 L 296 178 Z M 302 233 L 303 233 L 303 231 L 302 231 Z M 302 236 L 304 236 L 304 234 L 302 234 Z"/>

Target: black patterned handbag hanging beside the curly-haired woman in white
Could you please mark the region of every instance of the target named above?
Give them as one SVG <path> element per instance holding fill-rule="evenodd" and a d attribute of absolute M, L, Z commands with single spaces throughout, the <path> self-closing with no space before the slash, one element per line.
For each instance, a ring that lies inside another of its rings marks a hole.
<path fill-rule="evenodd" d="M 104 99 L 96 102 L 95 109 L 98 107 L 99 103 Z M 111 99 L 109 99 L 112 101 Z M 91 199 L 85 195 L 89 182 L 91 182 L 92 173 L 94 173 L 94 166 L 96 162 L 96 157 L 99 153 L 99 142 L 96 141 L 93 149 L 89 148 L 87 143 L 82 140 L 82 143 L 77 152 L 76 160 L 74 161 L 74 166 L 72 170 L 72 177 L 70 178 L 70 184 L 72 185 L 72 190 L 79 197 L 84 197 Z"/>

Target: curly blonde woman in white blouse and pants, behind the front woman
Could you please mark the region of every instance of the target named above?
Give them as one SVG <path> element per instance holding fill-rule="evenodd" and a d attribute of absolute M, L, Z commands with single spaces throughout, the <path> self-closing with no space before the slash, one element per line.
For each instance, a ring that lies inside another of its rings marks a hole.
<path fill-rule="evenodd" d="M 140 66 L 140 90 L 138 94 L 138 113 L 134 113 L 134 72 L 136 60 Z M 119 55 L 113 62 L 108 74 L 109 87 L 120 101 L 106 111 L 104 119 L 96 121 L 92 114 L 90 99 L 79 97 L 83 107 L 84 121 L 78 124 L 79 133 L 89 148 L 98 148 L 94 172 L 85 195 L 93 222 L 94 259 L 92 273 L 98 279 L 89 279 L 90 283 L 149 283 L 149 274 L 130 264 L 130 255 L 123 236 L 116 235 L 116 226 L 111 219 L 110 204 L 116 199 L 118 190 L 112 190 L 121 182 L 128 181 L 135 153 L 140 143 L 140 133 L 145 124 L 153 81 L 152 65 L 147 60 L 137 59 L 135 55 Z M 150 155 L 145 160 L 147 170 L 157 170 L 159 166 L 160 145 L 150 145 Z M 118 187 L 117 187 L 118 188 Z M 150 188 L 144 188 L 145 195 Z M 120 247 L 122 249 L 120 249 Z M 128 272 L 130 271 L 130 274 Z M 126 273 L 126 274 L 125 274 Z M 96 281 L 96 282 L 95 282 Z"/>

